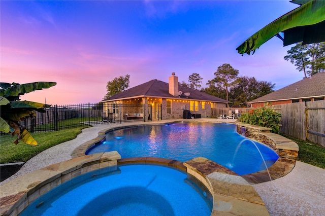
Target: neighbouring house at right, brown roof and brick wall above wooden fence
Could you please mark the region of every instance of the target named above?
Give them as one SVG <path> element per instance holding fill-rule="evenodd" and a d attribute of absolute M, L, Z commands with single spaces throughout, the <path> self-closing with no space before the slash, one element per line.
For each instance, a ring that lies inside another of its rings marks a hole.
<path fill-rule="evenodd" d="M 320 72 L 282 89 L 250 101 L 251 107 L 325 99 L 325 72 Z"/>

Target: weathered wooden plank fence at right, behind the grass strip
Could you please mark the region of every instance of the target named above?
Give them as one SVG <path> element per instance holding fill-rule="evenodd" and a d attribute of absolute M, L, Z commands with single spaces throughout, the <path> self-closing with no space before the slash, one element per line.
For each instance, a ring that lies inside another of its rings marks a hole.
<path fill-rule="evenodd" d="M 280 132 L 325 147 L 325 100 L 274 105 L 281 114 Z"/>

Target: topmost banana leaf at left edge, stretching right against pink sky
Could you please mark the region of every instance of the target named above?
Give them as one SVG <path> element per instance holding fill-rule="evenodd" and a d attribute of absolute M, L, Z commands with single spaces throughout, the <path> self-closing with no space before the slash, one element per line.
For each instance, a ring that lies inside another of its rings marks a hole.
<path fill-rule="evenodd" d="M 6 97 L 8 100 L 12 101 L 19 95 L 23 95 L 25 93 L 29 93 L 36 90 L 41 90 L 44 88 L 50 88 L 52 86 L 55 86 L 55 82 L 35 82 L 35 83 L 26 83 L 26 84 L 16 84 L 13 83 L 13 86 L 6 88 L 6 89 L 0 89 L 0 96 Z M 9 99 L 10 98 L 10 99 Z"/>

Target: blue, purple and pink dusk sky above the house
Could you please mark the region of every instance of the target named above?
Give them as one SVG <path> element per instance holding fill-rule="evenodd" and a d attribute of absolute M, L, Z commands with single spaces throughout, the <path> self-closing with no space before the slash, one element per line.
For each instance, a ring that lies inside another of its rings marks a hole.
<path fill-rule="evenodd" d="M 96 103 L 108 81 L 129 88 L 198 73 L 203 87 L 218 66 L 275 84 L 303 78 L 284 60 L 292 46 L 272 38 L 254 55 L 236 48 L 298 5 L 278 1 L 1 1 L 1 82 L 56 82 L 22 100 Z"/>

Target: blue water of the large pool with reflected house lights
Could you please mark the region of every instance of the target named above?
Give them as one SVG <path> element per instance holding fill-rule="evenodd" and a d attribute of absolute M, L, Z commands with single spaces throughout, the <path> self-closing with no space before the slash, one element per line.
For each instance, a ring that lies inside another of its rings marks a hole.
<path fill-rule="evenodd" d="M 109 151 L 117 151 L 122 158 L 158 157 L 182 162 L 205 157 L 239 175 L 264 170 L 263 159 L 269 167 L 279 157 L 266 145 L 238 134 L 234 124 L 207 122 L 146 125 L 111 131 L 106 134 L 105 141 L 85 154 Z"/>

